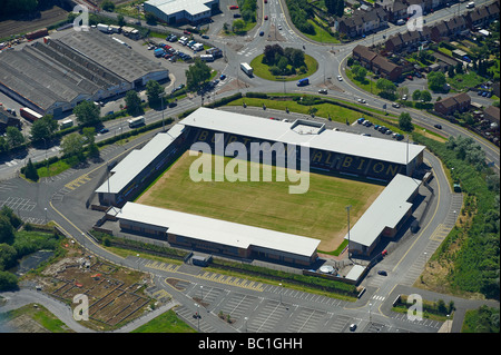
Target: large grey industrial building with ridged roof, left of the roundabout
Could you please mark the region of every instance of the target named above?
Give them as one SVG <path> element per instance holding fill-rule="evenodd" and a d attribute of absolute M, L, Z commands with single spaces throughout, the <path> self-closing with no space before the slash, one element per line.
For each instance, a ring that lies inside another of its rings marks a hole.
<path fill-rule="evenodd" d="M 95 28 L 0 56 L 0 91 L 40 115 L 58 116 L 84 100 L 102 100 L 167 78 L 160 63 Z"/>

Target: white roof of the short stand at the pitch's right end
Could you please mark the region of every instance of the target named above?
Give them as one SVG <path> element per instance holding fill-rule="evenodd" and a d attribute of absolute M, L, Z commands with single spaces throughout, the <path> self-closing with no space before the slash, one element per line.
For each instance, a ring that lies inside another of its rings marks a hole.
<path fill-rule="evenodd" d="M 421 180 L 397 174 L 350 229 L 350 241 L 371 246 L 385 227 L 394 228 L 412 207 L 409 198 Z M 345 236 L 347 239 L 347 235 Z"/>

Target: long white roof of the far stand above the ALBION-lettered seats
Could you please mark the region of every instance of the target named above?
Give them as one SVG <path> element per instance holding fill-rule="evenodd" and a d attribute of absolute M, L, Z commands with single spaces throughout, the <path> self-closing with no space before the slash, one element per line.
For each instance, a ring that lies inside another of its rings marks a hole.
<path fill-rule="evenodd" d="M 263 119 L 262 117 L 214 110 L 205 107 L 200 107 L 181 122 L 185 126 L 256 137 L 268 141 L 281 141 L 295 146 L 310 145 L 310 148 L 402 165 L 412 161 L 425 148 L 419 145 L 407 145 L 403 141 L 365 137 L 330 129 L 325 129 L 320 134 L 302 135 L 292 129 L 294 122 Z"/>

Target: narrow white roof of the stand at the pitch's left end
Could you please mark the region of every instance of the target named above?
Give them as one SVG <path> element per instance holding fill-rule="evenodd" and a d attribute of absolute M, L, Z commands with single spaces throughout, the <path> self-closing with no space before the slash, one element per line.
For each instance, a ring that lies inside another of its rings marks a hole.
<path fill-rule="evenodd" d="M 111 177 L 99 186 L 96 193 L 120 193 L 181 134 L 183 128 L 183 125 L 177 124 L 168 132 L 156 135 L 140 150 L 132 150 L 111 169 Z"/>

